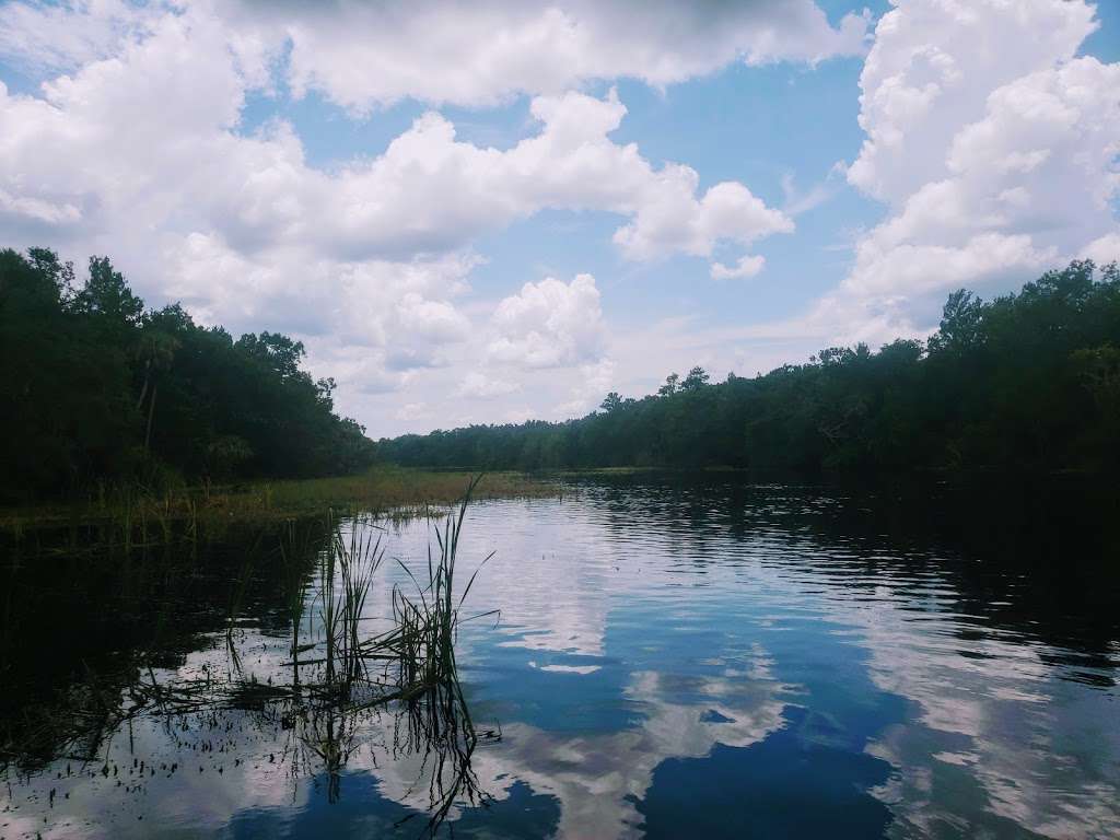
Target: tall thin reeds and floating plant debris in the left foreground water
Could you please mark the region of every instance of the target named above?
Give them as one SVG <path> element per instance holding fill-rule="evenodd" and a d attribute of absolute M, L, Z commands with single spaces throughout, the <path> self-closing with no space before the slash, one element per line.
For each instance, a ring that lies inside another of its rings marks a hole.
<path fill-rule="evenodd" d="M 376 728 L 375 721 L 389 716 L 392 756 L 420 758 L 414 787 L 427 794 L 426 833 L 435 834 L 456 803 L 486 804 L 470 757 L 479 743 L 501 736 L 489 730 L 480 738 L 476 732 L 455 652 L 464 622 L 495 615 L 464 614 L 482 564 L 461 589 L 457 573 L 466 513 L 480 486 L 479 478 L 468 482 L 466 493 L 460 485 L 459 504 L 446 515 L 427 510 L 427 563 L 421 569 L 401 563 L 403 582 L 389 592 L 391 615 L 383 617 L 388 629 L 365 631 L 365 622 L 377 618 L 367 615 L 370 595 L 388 566 L 386 531 L 379 521 L 367 516 L 340 524 L 329 514 L 324 528 L 314 531 L 288 522 L 276 549 L 282 615 L 291 632 L 281 648 L 290 652 L 290 660 L 279 664 L 280 671 L 265 679 L 240 662 L 240 616 L 263 553 L 254 543 L 240 558 L 230 584 L 225 673 L 207 669 L 188 678 L 157 674 L 151 663 L 165 619 L 170 620 L 161 610 L 151 648 L 138 655 L 133 673 L 87 670 L 57 709 L 40 710 L 22 743 L 0 743 L 0 772 L 6 763 L 26 766 L 30 759 L 41 766 L 58 756 L 108 767 L 114 734 L 131 731 L 141 718 L 164 721 L 174 730 L 176 720 L 244 713 L 284 734 L 283 758 L 290 772 L 324 774 L 328 800 L 336 801 L 348 758 L 371 727 Z"/>

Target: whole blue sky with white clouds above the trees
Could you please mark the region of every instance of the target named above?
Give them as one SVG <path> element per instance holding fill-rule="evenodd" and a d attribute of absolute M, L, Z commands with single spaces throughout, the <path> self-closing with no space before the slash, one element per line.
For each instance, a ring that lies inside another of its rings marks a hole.
<path fill-rule="evenodd" d="M 371 437 L 579 417 L 1120 259 L 1120 0 L 8 0 L 32 245 Z"/>

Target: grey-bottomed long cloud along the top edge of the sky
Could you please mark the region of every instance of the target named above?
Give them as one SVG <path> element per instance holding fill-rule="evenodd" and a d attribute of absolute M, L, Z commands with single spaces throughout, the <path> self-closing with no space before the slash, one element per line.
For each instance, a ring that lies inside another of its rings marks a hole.
<path fill-rule="evenodd" d="M 815 63 L 865 49 L 867 18 L 838 27 L 811 0 L 678 3 L 479 0 L 323 6 L 220 3 L 241 31 L 290 43 L 288 81 L 356 111 L 404 97 L 493 105 L 591 80 L 655 86 L 736 62 Z"/>

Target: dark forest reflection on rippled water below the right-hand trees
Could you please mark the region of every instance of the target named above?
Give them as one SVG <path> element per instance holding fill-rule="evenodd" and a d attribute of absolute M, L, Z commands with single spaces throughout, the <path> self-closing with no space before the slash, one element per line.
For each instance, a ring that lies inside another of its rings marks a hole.
<path fill-rule="evenodd" d="M 815 564 L 853 591 L 879 578 L 905 592 L 935 573 L 954 597 L 944 608 L 968 616 L 976 632 L 1061 648 L 1066 659 L 1054 664 L 1068 666 L 1063 676 L 1116 684 L 1107 673 L 1120 640 L 1114 480 L 640 473 L 577 486 L 612 529 L 669 534 L 666 550 L 701 567 L 725 559 L 716 538 L 773 535 L 799 548 L 793 563 Z"/>

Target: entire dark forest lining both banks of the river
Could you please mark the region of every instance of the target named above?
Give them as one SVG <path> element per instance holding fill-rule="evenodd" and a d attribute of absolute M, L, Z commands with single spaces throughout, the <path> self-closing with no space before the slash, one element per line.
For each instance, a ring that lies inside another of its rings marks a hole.
<path fill-rule="evenodd" d="M 1076 261 L 984 301 L 960 290 L 926 340 L 609 393 L 566 422 L 374 444 L 334 411 L 299 342 L 234 339 L 147 309 L 109 259 L 0 251 L 0 500 L 407 467 L 1093 470 L 1120 466 L 1120 269 Z"/>

